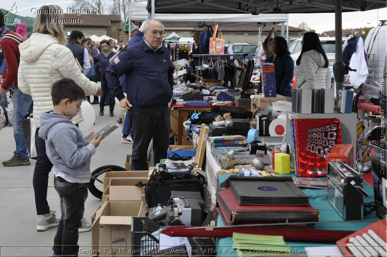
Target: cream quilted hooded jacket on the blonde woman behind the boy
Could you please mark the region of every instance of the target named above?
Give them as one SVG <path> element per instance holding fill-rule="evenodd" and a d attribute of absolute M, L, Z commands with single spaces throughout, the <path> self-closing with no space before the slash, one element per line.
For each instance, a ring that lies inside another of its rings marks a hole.
<path fill-rule="evenodd" d="M 86 95 L 94 95 L 98 85 L 80 72 L 74 55 L 51 35 L 34 33 L 31 38 L 19 45 L 20 65 L 17 76 L 19 89 L 32 96 L 34 101 L 35 126 L 40 127 L 41 111 L 53 110 L 51 85 L 63 78 L 73 79 L 82 87 Z M 83 121 L 79 112 L 72 122 Z"/>

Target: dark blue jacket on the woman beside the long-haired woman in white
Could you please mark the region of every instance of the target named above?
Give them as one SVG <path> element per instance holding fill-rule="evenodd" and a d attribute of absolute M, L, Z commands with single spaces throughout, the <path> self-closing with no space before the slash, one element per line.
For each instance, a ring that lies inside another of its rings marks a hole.
<path fill-rule="evenodd" d="M 265 62 L 273 62 L 273 56 L 267 57 Z M 290 82 L 293 79 L 294 61 L 290 55 L 277 57 L 274 62 L 274 74 L 276 77 L 277 91 L 283 91 L 288 87 L 291 89 Z"/>

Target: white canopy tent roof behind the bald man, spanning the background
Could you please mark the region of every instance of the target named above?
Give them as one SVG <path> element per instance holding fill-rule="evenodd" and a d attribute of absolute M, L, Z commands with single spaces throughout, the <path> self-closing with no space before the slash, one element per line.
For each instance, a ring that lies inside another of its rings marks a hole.
<path fill-rule="evenodd" d="M 148 19 L 146 2 L 128 3 L 128 20 L 144 21 Z M 176 7 L 178 8 L 178 7 Z M 261 27 L 288 22 L 288 14 L 155 14 L 156 19 L 163 22 L 164 27 L 203 27 L 204 24 L 222 27 L 255 27 L 259 26 L 259 38 Z M 150 17 L 149 17 L 150 18 Z M 286 29 L 288 38 L 288 29 Z"/>

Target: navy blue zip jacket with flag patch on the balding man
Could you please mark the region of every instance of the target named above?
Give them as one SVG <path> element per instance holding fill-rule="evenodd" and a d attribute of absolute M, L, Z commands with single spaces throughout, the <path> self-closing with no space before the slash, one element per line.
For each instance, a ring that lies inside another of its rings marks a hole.
<path fill-rule="evenodd" d="M 118 100 L 125 98 L 119 78 L 126 75 L 126 91 L 135 111 L 168 108 L 173 90 L 173 66 L 165 46 L 154 51 L 145 40 L 125 47 L 106 70 L 108 86 Z"/>

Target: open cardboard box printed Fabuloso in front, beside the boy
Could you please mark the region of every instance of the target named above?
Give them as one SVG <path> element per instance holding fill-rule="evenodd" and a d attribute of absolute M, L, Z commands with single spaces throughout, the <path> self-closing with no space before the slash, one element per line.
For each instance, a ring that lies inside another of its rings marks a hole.
<path fill-rule="evenodd" d="M 124 198 L 130 200 L 118 200 Z M 93 250 L 101 250 L 101 253 L 105 253 L 104 248 L 108 248 L 106 250 L 106 253 L 108 253 L 110 250 L 114 250 L 116 243 L 120 243 L 118 248 L 126 248 L 126 253 L 116 251 L 115 255 L 130 255 L 127 251 L 131 245 L 130 226 L 132 224 L 132 217 L 145 216 L 148 211 L 145 203 L 140 199 L 141 189 L 139 187 L 118 187 L 111 190 L 108 200 L 97 208 L 91 218 L 91 244 Z M 106 216 L 110 218 L 103 218 Z M 114 218 L 113 216 L 125 216 L 127 218 Z M 128 236 L 124 241 L 118 238 L 122 234 L 117 230 L 125 229 Z M 122 243 L 126 243 L 127 247 L 123 247 Z"/>

